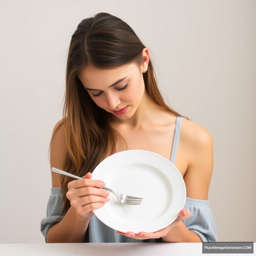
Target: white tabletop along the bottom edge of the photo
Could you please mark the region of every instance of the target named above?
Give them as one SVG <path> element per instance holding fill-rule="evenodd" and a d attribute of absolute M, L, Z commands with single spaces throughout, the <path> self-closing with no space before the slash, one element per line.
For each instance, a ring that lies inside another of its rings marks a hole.
<path fill-rule="evenodd" d="M 255 243 L 254 243 L 255 246 Z M 0 244 L 1 256 L 171 256 L 202 254 L 201 243 L 35 243 Z M 248 254 L 236 254 L 248 255 Z"/>

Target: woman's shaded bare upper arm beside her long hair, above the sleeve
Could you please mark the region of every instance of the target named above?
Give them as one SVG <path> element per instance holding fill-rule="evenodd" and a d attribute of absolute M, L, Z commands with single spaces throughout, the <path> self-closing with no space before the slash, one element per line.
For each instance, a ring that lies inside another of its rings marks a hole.
<path fill-rule="evenodd" d="M 53 129 L 51 144 L 50 144 L 50 164 L 51 168 L 63 168 L 64 159 L 67 155 L 67 144 L 65 138 L 65 131 L 62 126 L 63 120 L 60 120 Z M 60 187 L 60 174 L 51 172 L 52 187 Z"/>

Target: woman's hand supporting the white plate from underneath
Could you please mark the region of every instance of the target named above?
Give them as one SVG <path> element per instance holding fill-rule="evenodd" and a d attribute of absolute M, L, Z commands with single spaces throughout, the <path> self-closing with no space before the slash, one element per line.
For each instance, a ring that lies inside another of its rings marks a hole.
<path fill-rule="evenodd" d="M 166 236 L 166 234 L 174 227 L 176 226 L 178 223 L 180 223 L 181 221 L 183 221 L 184 219 L 187 219 L 190 217 L 190 211 L 187 209 L 183 209 L 180 210 L 179 212 L 179 216 L 177 217 L 177 219 L 172 222 L 169 226 L 158 230 L 156 232 L 152 232 L 152 233 L 147 233 L 147 232 L 139 232 L 138 234 L 133 233 L 133 232 L 120 232 L 117 231 L 118 234 L 127 236 L 127 237 L 131 237 L 131 238 L 135 238 L 135 239 L 154 239 L 154 238 L 160 238 L 160 237 L 164 237 Z"/>

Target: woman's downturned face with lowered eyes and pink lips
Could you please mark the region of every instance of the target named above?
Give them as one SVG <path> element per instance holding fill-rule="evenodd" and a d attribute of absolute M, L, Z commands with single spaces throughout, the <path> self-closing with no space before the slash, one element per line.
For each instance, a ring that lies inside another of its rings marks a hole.
<path fill-rule="evenodd" d="M 133 116 L 145 91 L 142 71 L 135 64 L 116 69 L 89 66 L 78 78 L 100 108 L 122 120 Z"/>

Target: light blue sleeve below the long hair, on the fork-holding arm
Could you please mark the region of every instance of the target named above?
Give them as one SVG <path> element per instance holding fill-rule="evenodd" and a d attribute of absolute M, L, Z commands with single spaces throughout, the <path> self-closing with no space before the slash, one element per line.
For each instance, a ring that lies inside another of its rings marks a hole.
<path fill-rule="evenodd" d="M 47 204 L 46 218 L 41 220 L 41 232 L 45 237 L 45 241 L 49 228 L 63 219 L 64 216 L 61 216 L 62 209 L 61 187 L 51 188 L 51 195 Z"/>

